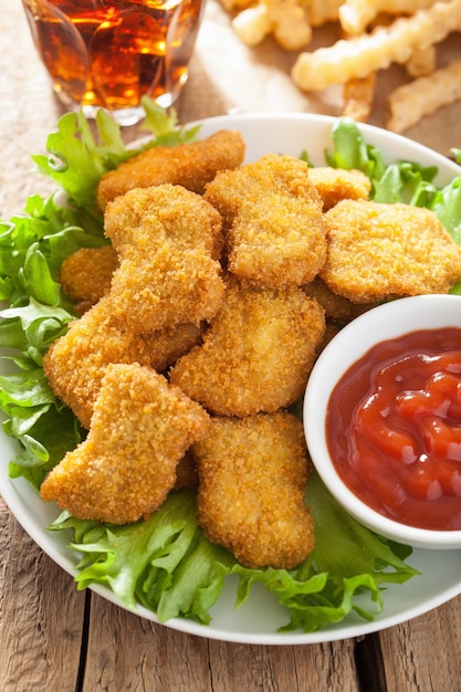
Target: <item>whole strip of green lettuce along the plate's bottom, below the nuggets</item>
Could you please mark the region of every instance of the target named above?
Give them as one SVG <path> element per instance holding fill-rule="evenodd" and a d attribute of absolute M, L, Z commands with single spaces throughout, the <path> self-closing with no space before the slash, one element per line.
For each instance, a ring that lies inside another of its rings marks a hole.
<path fill-rule="evenodd" d="M 82 554 L 78 588 L 108 586 L 127 608 L 136 610 L 142 604 L 160 622 L 185 617 L 209 623 L 210 608 L 230 574 L 239 577 L 235 607 L 260 583 L 287 610 L 284 631 L 313 632 L 342 621 L 352 610 L 371 620 L 383 607 L 381 585 L 402 584 L 418 574 L 404 562 L 411 549 L 358 524 L 316 474 L 307 502 L 316 547 L 294 570 L 242 567 L 224 548 L 207 541 L 197 523 L 192 491 L 171 493 L 149 520 L 133 525 L 108 526 L 63 513 L 51 530 L 74 532 L 71 548 Z M 369 594 L 369 608 L 356 602 L 364 591 Z"/>

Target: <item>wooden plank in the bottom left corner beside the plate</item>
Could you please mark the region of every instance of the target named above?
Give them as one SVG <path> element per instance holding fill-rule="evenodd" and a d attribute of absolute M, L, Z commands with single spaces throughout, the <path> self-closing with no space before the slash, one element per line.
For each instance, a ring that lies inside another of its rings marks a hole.
<path fill-rule="evenodd" d="M 0 681 L 9 692 L 74 692 L 85 596 L 0 505 Z"/>

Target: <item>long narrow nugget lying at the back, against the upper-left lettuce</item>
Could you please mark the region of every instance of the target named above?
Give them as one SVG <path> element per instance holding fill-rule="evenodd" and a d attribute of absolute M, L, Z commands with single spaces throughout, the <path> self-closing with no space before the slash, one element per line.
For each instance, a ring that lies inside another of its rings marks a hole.
<path fill-rule="evenodd" d="M 104 211 L 107 202 L 133 188 L 165 182 L 201 195 L 218 170 L 240 166 L 244 151 L 241 134 L 226 129 L 200 141 L 147 149 L 101 178 L 96 190 L 98 206 Z"/>

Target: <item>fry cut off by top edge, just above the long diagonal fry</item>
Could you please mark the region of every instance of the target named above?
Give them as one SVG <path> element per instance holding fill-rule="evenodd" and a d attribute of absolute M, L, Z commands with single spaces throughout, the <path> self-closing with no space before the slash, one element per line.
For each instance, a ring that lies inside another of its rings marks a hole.
<path fill-rule="evenodd" d="M 433 4 L 433 0 L 345 0 L 338 11 L 339 22 L 346 33 L 354 35 L 365 31 L 380 12 L 412 14 Z"/>

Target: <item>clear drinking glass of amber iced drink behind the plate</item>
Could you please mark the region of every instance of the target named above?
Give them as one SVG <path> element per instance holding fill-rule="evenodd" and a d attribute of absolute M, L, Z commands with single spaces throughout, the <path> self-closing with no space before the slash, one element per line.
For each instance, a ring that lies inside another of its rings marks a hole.
<path fill-rule="evenodd" d="M 205 0 L 22 0 L 32 38 L 70 109 L 122 125 L 140 98 L 170 106 L 186 83 Z"/>

